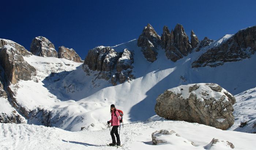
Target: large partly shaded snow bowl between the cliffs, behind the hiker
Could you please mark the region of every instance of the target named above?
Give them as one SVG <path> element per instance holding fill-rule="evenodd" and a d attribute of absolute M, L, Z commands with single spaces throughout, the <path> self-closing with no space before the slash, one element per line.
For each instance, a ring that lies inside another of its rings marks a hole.
<path fill-rule="evenodd" d="M 78 131 L 80 127 L 109 120 L 111 104 L 125 112 L 126 123 L 150 118 L 155 115 L 157 96 L 178 85 L 213 82 L 232 94 L 255 86 L 252 84 L 256 82 L 255 55 L 215 68 L 191 68 L 191 62 L 207 49 L 193 52 L 177 62 L 168 60 L 164 50 L 159 49 L 157 60 L 151 63 L 143 57 L 136 40 L 112 48 L 134 51 L 132 74 L 136 79 L 112 86 L 109 81 L 94 80 L 96 71 L 86 76 L 81 63 L 30 56 L 25 60 L 38 70 L 39 82 L 20 81 L 16 99 L 30 110 L 38 107 L 50 111 L 52 126 Z M 42 124 L 40 119 L 29 120 L 29 123 Z"/>

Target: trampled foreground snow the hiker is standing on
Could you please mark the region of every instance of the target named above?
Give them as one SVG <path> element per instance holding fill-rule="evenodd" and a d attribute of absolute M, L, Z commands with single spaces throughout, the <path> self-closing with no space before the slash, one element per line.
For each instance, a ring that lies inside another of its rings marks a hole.
<path fill-rule="evenodd" d="M 234 150 L 252 150 L 255 148 L 255 134 L 223 131 L 197 123 L 182 121 L 152 121 L 143 123 L 124 124 L 120 131 L 120 140 L 123 150 L 156 150 L 156 149 L 190 149 L 204 150 L 213 138 L 226 140 L 234 145 Z M 159 119 L 157 119 L 159 120 Z M 151 134 L 161 129 L 172 129 L 181 137 L 167 137 L 167 143 L 152 144 Z M 70 132 L 54 127 L 44 127 L 29 124 L 3 124 L 0 123 L 0 148 L 1 149 L 90 149 L 109 150 L 116 147 L 106 146 L 110 143 L 109 128 L 99 131 L 83 130 Z M 183 139 L 194 143 L 185 145 Z M 183 141 L 182 141 L 183 140 Z M 211 149 L 231 149 L 226 145 L 215 145 Z"/>

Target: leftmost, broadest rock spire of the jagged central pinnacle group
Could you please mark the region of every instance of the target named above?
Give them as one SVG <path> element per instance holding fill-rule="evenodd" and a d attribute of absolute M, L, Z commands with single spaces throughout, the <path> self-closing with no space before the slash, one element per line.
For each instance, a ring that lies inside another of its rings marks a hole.
<path fill-rule="evenodd" d="M 150 24 L 147 24 L 138 39 L 138 46 L 142 48 L 141 51 L 147 61 L 154 62 L 157 60 L 159 43 L 160 36 Z"/>

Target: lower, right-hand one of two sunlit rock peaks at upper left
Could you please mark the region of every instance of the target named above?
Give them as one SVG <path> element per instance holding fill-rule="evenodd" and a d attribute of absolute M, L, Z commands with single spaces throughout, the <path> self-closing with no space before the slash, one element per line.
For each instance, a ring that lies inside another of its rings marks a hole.
<path fill-rule="evenodd" d="M 65 58 L 74 62 L 83 62 L 80 56 L 76 53 L 75 50 L 66 48 L 64 46 L 59 47 L 58 57 Z"/>

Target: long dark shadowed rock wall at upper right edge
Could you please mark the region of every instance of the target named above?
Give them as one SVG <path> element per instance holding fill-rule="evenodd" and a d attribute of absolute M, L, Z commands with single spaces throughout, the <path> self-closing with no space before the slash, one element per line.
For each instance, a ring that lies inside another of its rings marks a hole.
<path fill-rule="evenodd" d="M 256 26 L 238 31 L 221 45 L 202 54 L 192 67 L 215 67 L 225 62 L 250 58 L 256 51 Z"/>

